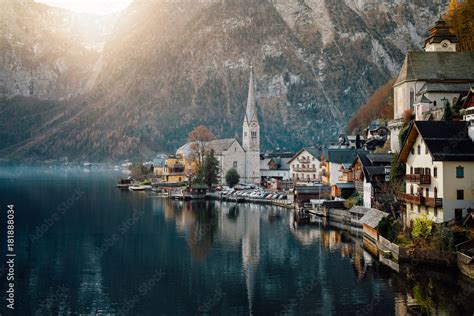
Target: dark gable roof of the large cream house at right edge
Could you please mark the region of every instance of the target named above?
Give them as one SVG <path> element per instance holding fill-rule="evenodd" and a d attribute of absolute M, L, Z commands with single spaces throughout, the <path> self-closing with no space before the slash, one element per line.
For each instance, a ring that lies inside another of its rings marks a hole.
<path fill-rule="evenodd" d="M 474 161 L 474 142 L 466 121 L 415 121 L 408 131 L 398 159 L 405 162 L 418 135 L 434 161 Z"/>

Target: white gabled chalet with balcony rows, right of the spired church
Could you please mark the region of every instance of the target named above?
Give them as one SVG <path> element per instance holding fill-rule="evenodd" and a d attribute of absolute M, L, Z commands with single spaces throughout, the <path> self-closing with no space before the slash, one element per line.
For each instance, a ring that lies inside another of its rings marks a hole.
<path fill-rule="evenodd" d="M 289 161 L 290 176 L 295 185 L 309 185 L 321 182 L 321 149 L 302 148 Z"/>

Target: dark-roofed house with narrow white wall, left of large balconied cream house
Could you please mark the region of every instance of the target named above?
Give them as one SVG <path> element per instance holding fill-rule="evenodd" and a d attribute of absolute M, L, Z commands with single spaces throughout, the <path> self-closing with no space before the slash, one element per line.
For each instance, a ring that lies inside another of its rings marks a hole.
<path fill-rule="evenodd" d="M 355 190 L 363 196 L 364 207 L 374 207 L 387 194 L 392 154 L 359 152 L 351 166 Z"/>

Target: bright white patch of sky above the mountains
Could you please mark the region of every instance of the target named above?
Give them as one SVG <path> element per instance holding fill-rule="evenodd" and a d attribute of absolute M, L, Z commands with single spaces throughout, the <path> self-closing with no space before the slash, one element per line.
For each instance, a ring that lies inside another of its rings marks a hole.
<path fill-rule="evenodd" d="M 36 0 L 75 12 L 108 14 L 125 9 L 132 0 Z"/>

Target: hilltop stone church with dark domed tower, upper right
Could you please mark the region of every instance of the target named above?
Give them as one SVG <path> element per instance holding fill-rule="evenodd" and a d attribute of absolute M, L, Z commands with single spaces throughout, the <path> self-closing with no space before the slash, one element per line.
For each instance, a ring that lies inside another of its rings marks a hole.
<path fill-rule="evenodd" d="M 452 106 L 460 93 L 474 85 L 474 52 L 458 52 L 458 39 L 440 19 L 429 31 L 424 51 L 408 52 L 393 86 L 394 119 L 389 122 L 390 148 L 399 152 L 403 114 L 416 120 L 440 120 L 446 102 Z"/>

